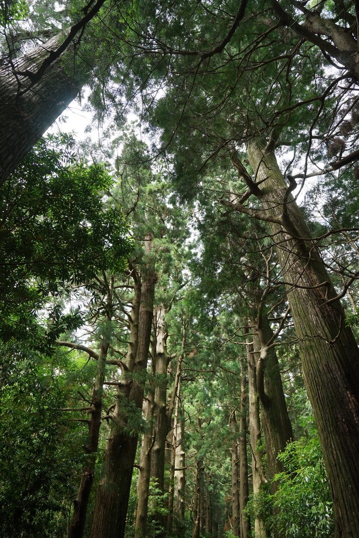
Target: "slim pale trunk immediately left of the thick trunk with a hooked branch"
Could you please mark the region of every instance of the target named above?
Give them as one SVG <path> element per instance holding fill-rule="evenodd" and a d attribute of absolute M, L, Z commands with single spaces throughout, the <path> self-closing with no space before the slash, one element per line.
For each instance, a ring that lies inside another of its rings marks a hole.
<path fill-rule="evenodd" d="M 247 336 L 247 363 L 248 363 L 248 400 L 249 400 L 249 430 L 252 450 L 252 482 L 254 498 L 261 492 L 264 477 L 262 462 L 261 421 L 259 419 L 259 398 L 256 379 L 256 357 L 254 353 L 253 336 Z M 264 522 L 258 517 L 254 521 L 255 535 L 257 538 L 266 538 L 267 533 Z"/>

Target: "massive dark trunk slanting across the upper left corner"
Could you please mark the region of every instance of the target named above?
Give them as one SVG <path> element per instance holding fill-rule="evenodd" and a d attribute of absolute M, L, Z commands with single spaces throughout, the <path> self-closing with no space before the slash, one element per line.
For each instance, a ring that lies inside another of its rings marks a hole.
<path fill-rule="evenodd" d="M 0 185 L 79 93 L 81 83 L 73 73 L 73 52 L 67 53 L 66 60 L 61 55 L 38 82 L 31 82 L 31 74 L 37 73 L 65 38 L 66 33 L 61 32 L 0 69 Z"/>

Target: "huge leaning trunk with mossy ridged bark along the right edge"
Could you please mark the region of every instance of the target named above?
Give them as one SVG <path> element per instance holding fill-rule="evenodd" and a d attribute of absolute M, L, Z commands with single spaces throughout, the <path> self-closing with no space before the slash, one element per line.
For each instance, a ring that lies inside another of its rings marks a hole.
<path fill-rule="evenodd" d="M 335 538 L 355 538 L 359 528 L 359 352 L 308 228 L 279 171 L 274 153 L 252 139 L 248 157 L 262 202 L 257 214 L 272 233 L 334 502 Z M 247 178 L 248 179 L 248 178 Z M 239 209 L 239 208 L 238 208 Z"/>

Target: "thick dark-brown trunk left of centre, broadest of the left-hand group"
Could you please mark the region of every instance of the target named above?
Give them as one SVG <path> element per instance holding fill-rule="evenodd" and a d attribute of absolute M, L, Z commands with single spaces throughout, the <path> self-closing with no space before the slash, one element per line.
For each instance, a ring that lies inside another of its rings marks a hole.
<path fill-rule="evenodd" d="M 146 253 L 151 251 L 151 238 L 146 237 Z M 133 367 L 133 380 L 123 410 L 121 398 L 117 399 L 103 460 L 103 476 L 96 495 L 95 511 L 90 538 L 123 538 L 130 495 L 133 463 L 135 462 L 138 433 L 124 428 L 128 421 L 126 407 L 134 404 L 138 412 L 142 409 L 145 370 L 149 355 L 153 299 L 156 273 L 153 263 L 147 265 L 143 274 L 139 308 L 138 348 Z"/>

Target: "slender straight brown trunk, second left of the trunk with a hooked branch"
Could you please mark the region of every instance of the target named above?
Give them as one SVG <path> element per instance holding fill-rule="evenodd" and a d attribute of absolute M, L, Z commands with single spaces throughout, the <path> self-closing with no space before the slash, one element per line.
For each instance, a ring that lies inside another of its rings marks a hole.
<path fill-rule="evenodd" d="M 241 513 L 241 538 L 249 538 L 249 516 L 244 514 L 249 498 L 248 485 L 248 459 L 247 459 L 247 388 L 244 370 L 244 360 L 241 358 L 241 409 L 240 409 L 240 436 L 238 439 L 238 458 L 240 460 L 240 513 Z"/>

